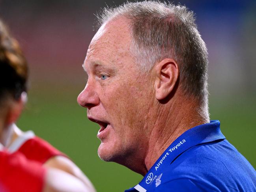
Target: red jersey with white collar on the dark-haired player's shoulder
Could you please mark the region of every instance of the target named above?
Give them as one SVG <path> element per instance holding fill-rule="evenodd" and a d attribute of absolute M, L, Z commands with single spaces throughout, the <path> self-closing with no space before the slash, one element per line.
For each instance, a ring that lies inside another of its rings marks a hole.
<path fill-rule="evenodd" d="M 20 152 L 28 160 L 34 160 L 41 164 L 58 155 L 67 157 L 45 140 L 35 136 L 32 131 L 25 132 L 24 135 L 17 138 L 8 148 L 8 151 L 11 153 Z"/>

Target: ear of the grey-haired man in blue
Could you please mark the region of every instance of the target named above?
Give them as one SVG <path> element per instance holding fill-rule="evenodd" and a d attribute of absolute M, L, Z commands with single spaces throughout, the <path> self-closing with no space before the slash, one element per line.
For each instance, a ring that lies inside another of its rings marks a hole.
<path fill-rule="evenodd" d="M 178 82 L 179 67 L 175 60 L 165 58 L 155 65 L 155 96 L 158 100 L 165 99 Z"/>

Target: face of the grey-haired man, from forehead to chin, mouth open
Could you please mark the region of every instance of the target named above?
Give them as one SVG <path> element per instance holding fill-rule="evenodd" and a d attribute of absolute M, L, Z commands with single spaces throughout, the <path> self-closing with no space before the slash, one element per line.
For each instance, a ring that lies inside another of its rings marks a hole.
<path fill-rule="evenodd" d="M 88 48 L 83 65 L 88 82 L 77 98 L 88 118 L 100 125 L 99 157 L 118 163 L 146 145 L 152 101 L 151 80 L 138 76 L 130 41 L 123 20 L 101 26 Z"/>

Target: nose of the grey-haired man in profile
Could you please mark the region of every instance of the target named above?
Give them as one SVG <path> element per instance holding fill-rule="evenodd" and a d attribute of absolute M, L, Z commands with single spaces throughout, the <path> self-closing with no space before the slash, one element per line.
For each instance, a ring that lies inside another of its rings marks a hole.
<path fill-rule="evenodd" d="M 92 86 L 86 84 L 84 90 L 77 97 L 77 103 L 82 107 L 90 109 L 99 104 L 99 96 Z"/>

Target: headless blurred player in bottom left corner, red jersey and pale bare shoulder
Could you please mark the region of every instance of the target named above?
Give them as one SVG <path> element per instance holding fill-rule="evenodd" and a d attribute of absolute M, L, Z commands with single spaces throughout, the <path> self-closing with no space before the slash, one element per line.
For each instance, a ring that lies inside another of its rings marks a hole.
<path fill-rule="evenodd" d="M 1 144 L 0 144 L 1 145 Z M 54 168 L 45 168 L 22 153 L 8 153 L 0 146 L 1 192 L 85 192 L 84 183 Z"/>

